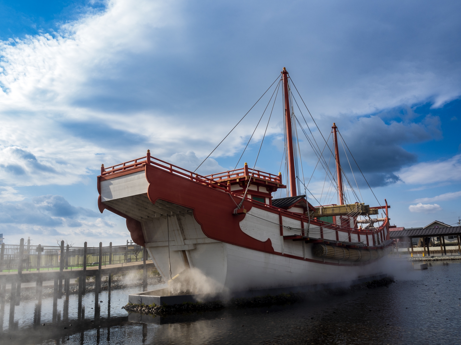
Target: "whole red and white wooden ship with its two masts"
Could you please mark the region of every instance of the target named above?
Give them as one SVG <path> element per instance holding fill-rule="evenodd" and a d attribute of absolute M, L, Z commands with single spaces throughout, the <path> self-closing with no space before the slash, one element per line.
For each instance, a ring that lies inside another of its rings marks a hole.
<path fill-rule="evenodd" d="M 306 186 L 297 178 L 293 86 L 285 68 L 278 87 L 285 178 L 247 163 L 202 176 L 149 150 L 140 158 L 101 166 L 100 212 L 126 219 L 133 242 L 147 248 L 165 282 L 188 277 L 182 280 L 189 284 L 184 291 L 219 293 L 328 286 L 383 274 L 383 258 L 391 248 L 390 206 L 385 200 L 374 207 L 346 200 L 351 188 L 344 187 L 335 123 L 331 154 L 336 172 L 330 179 L 337 204 L 314 206 L 307 194 L 298 195 L 300 185 Z M 278 190 L 288 195 L 274 198 Z M 381 218 L 379 212 L 384 212 Z M 193 282 L 191 272 L 199 277 Z"/>

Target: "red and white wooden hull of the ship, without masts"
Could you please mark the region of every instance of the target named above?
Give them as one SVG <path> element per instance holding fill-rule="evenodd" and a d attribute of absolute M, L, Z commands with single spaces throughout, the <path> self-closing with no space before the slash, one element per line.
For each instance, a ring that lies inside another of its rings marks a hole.
<path fill-rule="evenodd" d="M 282 186 L 278 177 L 258 173 L 251 177 L 253 186 Z M 195 269 L 215 292 L 223 292 L 349 282 L 383 273 L 379 258 L 390 244 L 387 217 L 375 230 L 359 230 L 309 219 L 301 207 L 290 211 L 249 194 L 238 214 L 239 183 L 250 176 L 240 169 L 203 177 L 148 152 L 101 168 L 99 209 L 126 219 L 133 241 L 147 247 L 165 281 Z"/>

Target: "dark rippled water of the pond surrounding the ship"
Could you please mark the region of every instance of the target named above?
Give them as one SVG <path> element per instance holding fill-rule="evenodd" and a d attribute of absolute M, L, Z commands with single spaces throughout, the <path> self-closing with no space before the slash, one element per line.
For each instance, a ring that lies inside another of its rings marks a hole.
<path fill-rule="evenodd" d="M 139 292 L 130 288 L 113 290 L 110 298 L 107 292 L 100 294 L 99 324 L 90 309 L 94 294 L 85 295 L 84 322 L 79 324 L 77 295 L 70 297 L 68 305 L 58 300 L 54 322 L 52 299 L 43 299 L 40 322 L 36 301 L 16 306 L 13 323 L 7 303 L 0 339 L 21 345 L 461 344 L 461 262 L 434 262 L 422 271 L 413 270 L 406 261 L 393 265 L 396 283 L 387 288 L 344 295 L 319 293 L 286 306 L 128 316 L 121 307 L 129 293 Z"/>

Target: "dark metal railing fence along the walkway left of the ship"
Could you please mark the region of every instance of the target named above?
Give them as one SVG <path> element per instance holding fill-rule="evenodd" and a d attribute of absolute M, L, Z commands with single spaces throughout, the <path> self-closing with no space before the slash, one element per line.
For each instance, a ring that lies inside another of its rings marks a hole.
<path fill-rule="evenodd" d="M 0 272 L 18 270 L 50 270 L 59 269 L 61 263 L 61 247 L 24 245 L 20 258 L 20 245 L 2 243 L 0 245 Z M 99 265 L 99 247 L 87 247 L 86 265 Z M 101 265 L 124 264 L 142 261 L 144 247 L 137 244 L 102 247 Z M 84 247 L 64 247 L 64 269 L 83 267 Z M 22 262 L 20 262 L 20 259 Z M 146 260 L 150 260 L 150 256 Z"/>

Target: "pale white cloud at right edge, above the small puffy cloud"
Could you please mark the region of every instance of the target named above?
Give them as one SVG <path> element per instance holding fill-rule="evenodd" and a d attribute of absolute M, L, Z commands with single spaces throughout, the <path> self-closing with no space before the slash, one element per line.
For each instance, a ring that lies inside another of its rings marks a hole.
<path fill-rule="evenodd" d="M 397 175 L 407 184 L 433 184 L 461 180 L 461 154 L 444 161 L 428 161 L 403 168 Z"/>

